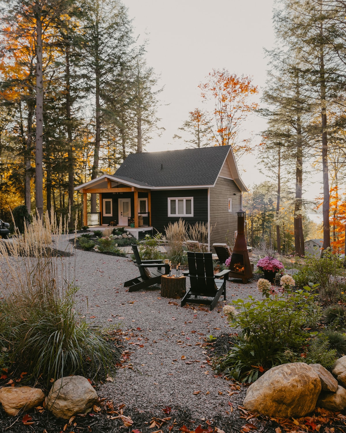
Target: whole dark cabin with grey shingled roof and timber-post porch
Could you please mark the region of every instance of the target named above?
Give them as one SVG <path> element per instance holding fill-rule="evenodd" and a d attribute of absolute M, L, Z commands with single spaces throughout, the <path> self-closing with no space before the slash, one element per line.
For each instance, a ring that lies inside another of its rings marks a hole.
<path fill-rule="evenodd" d="M 247 187 L 231 146 L 128 155 L 113 175 L 75 188 L 83 193 L 84 225 L 127 227 L 137 238 L 164 233 L 168 223 L 209 223 L 214 242 L 234 238 L 237 211 Z M 99 212 L 87 213 L 88 194 L 99 194 Z"/>

